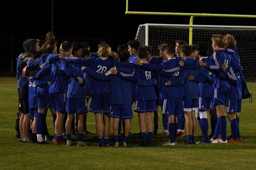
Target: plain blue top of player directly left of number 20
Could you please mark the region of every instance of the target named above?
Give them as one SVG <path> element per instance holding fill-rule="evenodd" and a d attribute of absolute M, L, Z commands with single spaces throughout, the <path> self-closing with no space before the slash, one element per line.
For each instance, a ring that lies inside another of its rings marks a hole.
<path fill-rule="evenodd" d="M 77 73 L 77 76 L 83 77 L 82 65 L 77 63 L 69 63 L 69 69 L 73 73 Z M 68 90 L 67 97 L 86 98 L 86 88 L 84 83 L 79 84 L 78 79 L 68 75 Z"/>

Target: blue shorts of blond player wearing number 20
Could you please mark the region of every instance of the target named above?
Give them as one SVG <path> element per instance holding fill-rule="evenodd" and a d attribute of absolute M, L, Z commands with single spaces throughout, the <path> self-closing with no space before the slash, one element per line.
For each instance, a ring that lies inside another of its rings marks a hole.
<path fill-rule="evenodd" d="M 111 93 L 97 94 L 91 97 L 89 112 L 109 114 Z"/>

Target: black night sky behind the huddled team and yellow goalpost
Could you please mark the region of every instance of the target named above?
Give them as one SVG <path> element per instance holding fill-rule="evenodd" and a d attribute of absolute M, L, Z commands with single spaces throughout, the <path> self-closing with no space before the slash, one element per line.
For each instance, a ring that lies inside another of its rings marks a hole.
<path fill-rule="evenodd" d="M 242 2 L 242 1 L 241 1 Z M 217 5 L 223 3 L 222 5 Z M 215 5 L 215 7 L 214 7 Z M 126 1 L 53 1 L 53 34 L 58 47 L 64 40 L 86 41 L 91 51 L 98 42 L 106 41 L 113 51 L 119 44 L 135 38 L 138 26 L 145 23 L 189 24 L 189 16 L 126 15 Z M 129 1 L 129 11 L 185 12 L 211 14 L 255 15 L 255 7 L 247 3 L 224 1 Z M 16 71 L 16 58 L 23 52 L 23 41 L 44 39 L 51 31 L 51 0 L 1 1 L 1 73 Z M 195 25 L 248 25 L 256 26 L 256 19 L 195 17 Z M 13 43 L 12 43 L 13 42 Z M 13 45 L 12 45 L 13 44 Z M 0 74 L 1 74 L 0 73 Z"/>

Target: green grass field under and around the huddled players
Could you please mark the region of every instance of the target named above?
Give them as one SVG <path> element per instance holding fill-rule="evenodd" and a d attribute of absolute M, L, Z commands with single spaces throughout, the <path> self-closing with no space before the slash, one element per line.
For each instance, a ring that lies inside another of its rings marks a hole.
<path fill-rule="evenodd" d="M 248 84 L 256 96 L 256 84 Z M 20 143 L 16 135 L 15 120 L 18 110 L 15 77 L 0 77 L 0 167 L 2 169 L 256 169 L 256 105 L 243 100 L 240 131 L 243 143 L 184 146 L 186 137 L 177 137 L 177 145 L 162 146 L 167 136 L 154 135 L 151 147 L 140 147 L 138 116 L 134 114 L 128 148 L 97 148 L 98 142 L 94 114 L 88 113 L 87 127 L 92 132 L 84 136 L 86 147 L 36 145 Z M 160 114 L 159 132 L 162 133 Z M 52 116 L 47 115 L 48 130 L 54 134 Z M 209 124 L 210 132 L 210 124 Z M 113 131 L 110 132 L 113 144 Z M 186 132 L 185 132 L 186 134 Z M 201 135 L 197 126 L 197 136 Z M 230 135 L 228 122 L 227 135 Z M 119 141 L 120 140 L 119 138 Z M 199 139 L 197 138 L 197 141 Z"/>

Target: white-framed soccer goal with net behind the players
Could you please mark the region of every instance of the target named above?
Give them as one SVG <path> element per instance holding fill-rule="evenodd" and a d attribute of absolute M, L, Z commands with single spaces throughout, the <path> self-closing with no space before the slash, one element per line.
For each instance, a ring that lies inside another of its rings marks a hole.
<path fill-rule="evenodd" d="M 248 82 L 256 82 L 256 27 L 224 25 L 139 25 L 136 38 L 142 46 L 151 46 L 152 54 L 158 55 L 157 46 L 162 43 L 174 44 L 176 40 L 189 42 L 189 27 L 193 28 L 192 44 L 205 43 L 209 55 L 213 54 L 212 34 L 230 34 L 237 41 L 238 54 L 243 66 L 243 75 Z"/>

